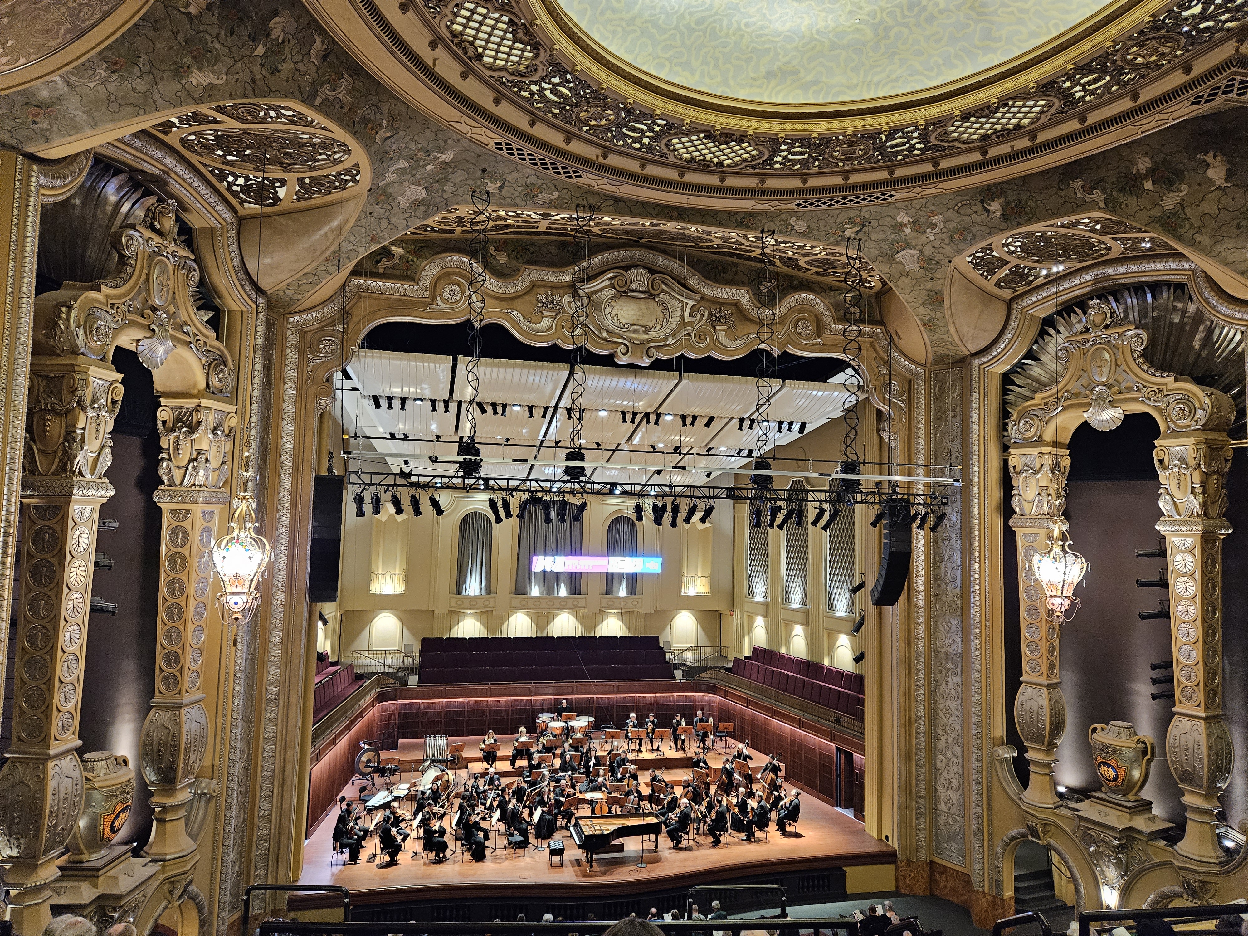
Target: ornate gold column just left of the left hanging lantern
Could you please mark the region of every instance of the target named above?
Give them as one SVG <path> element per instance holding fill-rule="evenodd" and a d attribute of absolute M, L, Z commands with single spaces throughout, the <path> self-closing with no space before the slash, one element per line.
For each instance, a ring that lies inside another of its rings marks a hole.
<path fill-rule="evenodd" d="M 200 668 L 215 629 L 210 607 L 212 543 L 230 502 L 230 449 L 235 407 L 217 399 L 162 398 L 160 618 L 156 698 L 144 721 L 144 779 L 152 790 L 154 822 L 146 854 L 157 861 L 195 850 L 186 831 L 191 785 L 208 744 L 208 714 Z M 213 639 L 220 641 L 218 635 Z"/>

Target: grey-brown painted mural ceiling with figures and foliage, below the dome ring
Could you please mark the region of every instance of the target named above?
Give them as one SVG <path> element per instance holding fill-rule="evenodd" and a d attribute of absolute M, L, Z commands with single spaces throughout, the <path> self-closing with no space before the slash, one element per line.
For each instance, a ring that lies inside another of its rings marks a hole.
<path fill-rule="evenodd" d="M 0 144 L 24 150 L 152 115 L 230 100 L 301 101 L 361 142 L 368 198 L 342 242 L 353 263 L 449 207 L 472 186 L 493 205 L 573 208 L 640 220 L 758 231 L 862 251 L 926 329 L 935 359 L 963 352 L 946 322 L 946 270 L 972 245 L 1023 225 L 1101 208 L 1248 276 L 1243 111 L 1192 119 L 1060 168 L 976 190 L 861 208 L 750 212 L 655 205 L 519 165 L 419 114 L 364 71 L 297 2 L 157 0 L 101 54 L 55 80 L 0 97 Z M 590 181 L 590 180 L 585 180 Z M 292 311 L 338 268 L 333 251 L 271 296 Z"/>

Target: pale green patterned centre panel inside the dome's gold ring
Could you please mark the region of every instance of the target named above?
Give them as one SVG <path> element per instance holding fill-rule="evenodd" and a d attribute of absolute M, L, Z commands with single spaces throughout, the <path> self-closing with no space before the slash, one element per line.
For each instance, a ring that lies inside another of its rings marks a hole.
<path fill-rule="evenodd" d="M 597 42 L 665 81 L 770 104 L 919 91 L 1000 65 L 1097 0 L 558 0 Z"/>

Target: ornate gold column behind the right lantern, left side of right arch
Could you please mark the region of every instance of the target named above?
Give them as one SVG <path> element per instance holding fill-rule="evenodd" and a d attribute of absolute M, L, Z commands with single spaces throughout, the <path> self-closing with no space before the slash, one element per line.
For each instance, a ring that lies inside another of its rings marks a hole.
<path fill-rule="evenodd" d="M 1033 806 L 1057 806 L 1053 768 L 1057 745 L 1066 734 L 1066 700 L 1058 661 L 1061 628 L 1045 604 L 1032 557 L 1050 547 L 1053 522 L 1066 510 L 1066 477 L 1071 457 L 1066 446 L 1048 442 L 1010 447 L 1013 480 L 1010 519 L 1018 542 L 1018 612 L 1022 625 L 1022 685 L 1015 699 L 1015 724 L 1027 745 L 1031 779 L 1023 800 Z"/>

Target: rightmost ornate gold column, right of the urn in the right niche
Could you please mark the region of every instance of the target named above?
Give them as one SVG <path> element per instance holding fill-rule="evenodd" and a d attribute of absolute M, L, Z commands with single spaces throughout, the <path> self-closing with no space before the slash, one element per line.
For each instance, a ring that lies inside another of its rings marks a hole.
<path fill-rule="evenodd" d="M 1183 790 L 1187 831 L 1176 846 L 1197 861 L 1224 861 L 1214 814 L 1231 779 L 1234 751 L 1222 718 L 1222 538 L 1229 439 L 1222 432 L 1164 434 L 1153 461 L 1161 479 L 1169 567 L 1174 719 L 1166 759 Z"/>

